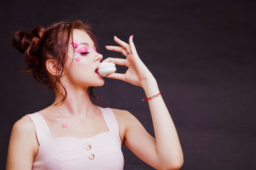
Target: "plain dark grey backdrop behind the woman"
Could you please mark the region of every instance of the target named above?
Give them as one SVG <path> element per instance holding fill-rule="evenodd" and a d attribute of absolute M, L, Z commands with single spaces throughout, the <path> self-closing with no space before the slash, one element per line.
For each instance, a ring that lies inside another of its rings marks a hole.
<path fill-rule="evenodd" d="M 182 169 L 256 169 L 255 1 L 1 1 L 1 169 L 10 131 L 23 115 L 41 110 L 53 94 L 23 75 L 15 31 L 76 19 L 97 32 L 100 52 L 113 36 L 134 43 L 155 76 L 184 153 Z M 125 67 L 117 67 L 119 73 Z M 143 89 L 106 80 L 95 89 L 104 107 L 128 110 L 154 136 Z M 125 146 L 124 169 L 153 169 Z"/>

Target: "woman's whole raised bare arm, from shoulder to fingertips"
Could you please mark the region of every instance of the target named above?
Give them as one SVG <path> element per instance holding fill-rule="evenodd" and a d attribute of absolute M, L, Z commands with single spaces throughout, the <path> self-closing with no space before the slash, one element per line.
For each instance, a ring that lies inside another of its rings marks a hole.
<path fill-rule="evenodd" d="M 108 50 L 121 52 L 126 56 L 126 59 L 108 58 L 104 62 L 114 62 L 128 67 L 126 73 L 111 73 L 107 78 L 115 78 L 140 86 L 148 98 L 160 91 L 156 79 L 138 56 L 132 38 L 133 36 L 130 36 L 129 44 L 127 44 L 115 37 L 116 43 L 121 46 L 106 46 Z M 183 164 L 182 148 L 163 97 L 160 95 L 148 100 L 148 105 L 156 138 L 150 136 L 135 117 L 127 114 L 125 146 L 152 167 L 157 169 L 180 169 Z"/>

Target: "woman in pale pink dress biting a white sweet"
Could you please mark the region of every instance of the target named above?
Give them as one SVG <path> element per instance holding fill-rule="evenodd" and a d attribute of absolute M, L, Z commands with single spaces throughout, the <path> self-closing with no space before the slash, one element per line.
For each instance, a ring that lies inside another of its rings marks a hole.
<path fill-rule="evenodd" d="M 122 145 L 156 169 L 180 169 L 183 155 L 175 125 L 132 38 L 125 43 L 114 37 L 120 46 L 106 46 L 126 59 L 104 62 L 128 67 L 107 78 L 145 90 L 156 138 L 129 111 L 101 108 L 90 100 L 90 87 L 104 85 L 97 73 L 102 55 L 90 25 L 76 20 L 16 32 L 13 45 L 24 53 L 27 73 L 52 88 L 55 100 L 15 122 L 6 169 L 123 169 Z"/>

